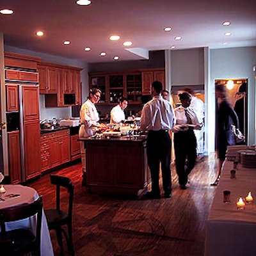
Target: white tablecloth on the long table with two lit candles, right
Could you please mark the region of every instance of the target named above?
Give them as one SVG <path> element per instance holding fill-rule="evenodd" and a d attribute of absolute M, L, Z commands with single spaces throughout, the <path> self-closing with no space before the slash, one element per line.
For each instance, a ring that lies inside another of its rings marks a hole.
<path fill-rule="evenodd" d="M 233 167 L 233 162 L 225 161 L 206 221 L 205 256 L 256 255 L 256 170 L 239 164 L 236 179 L 230 179 Z M 224 190 L 230 191 L 230 204 L 223 203 Z M 237 198 L 245 198 L 249 191 L 254 202 L 237 210 Z"/>

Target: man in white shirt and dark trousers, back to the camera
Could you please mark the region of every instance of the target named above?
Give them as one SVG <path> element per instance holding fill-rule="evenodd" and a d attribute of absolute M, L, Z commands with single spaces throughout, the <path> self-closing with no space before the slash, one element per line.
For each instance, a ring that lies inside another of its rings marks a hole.
<path fill-rule="evenodd" d="M 148 101 L 141 111 L 141 131 L 148 131 L 147 159 L 151 173 L 152 191 L 147 193 L 149 199 L 159 199 L 159 168 L 161 163 L 164 198 L 172 196 L 172 177 L 170 155 L 172 141 L 169 131 L 175 124 L 175 113 L 172 104 L 161 96 L 163 84 L 152 83 L 152 100 Z"/>

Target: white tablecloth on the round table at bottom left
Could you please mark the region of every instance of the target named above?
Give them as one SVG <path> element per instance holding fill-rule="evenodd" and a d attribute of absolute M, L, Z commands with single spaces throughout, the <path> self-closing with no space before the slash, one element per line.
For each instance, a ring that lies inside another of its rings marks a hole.
<path fill-rule="evenodd" d="M 6 193 L 2 195 L 0 200 L 0 209 L 11 207 L 20 204 L 31 204 L 38 198 L 38 193 L 33 188 L 21 185 L 4 185 Z M 14 197 L 8 197 L 8 195 L 17 195 Z M 44 198 L 43 198 L 44 199 Z M 6 230 L 12 230 L 15 228 L 31 228 L 35 234 L 36 219 L 29 218 L 26 220 L 15 221 L 6 224 Z M 44 210 L 42 214 L 42 229 L 41 229 L 41 255 L 53 256 L 51 237 L 47 226 Z"/>

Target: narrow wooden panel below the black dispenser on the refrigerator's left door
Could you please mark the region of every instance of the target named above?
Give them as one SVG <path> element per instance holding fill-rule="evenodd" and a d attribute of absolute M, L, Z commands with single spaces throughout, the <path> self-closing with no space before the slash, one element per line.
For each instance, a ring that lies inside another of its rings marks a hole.
<path fill-rule="evenodd" d="M 9 174 L 12 184 L 21 182 L 20 132 L 8 132 Z"/>

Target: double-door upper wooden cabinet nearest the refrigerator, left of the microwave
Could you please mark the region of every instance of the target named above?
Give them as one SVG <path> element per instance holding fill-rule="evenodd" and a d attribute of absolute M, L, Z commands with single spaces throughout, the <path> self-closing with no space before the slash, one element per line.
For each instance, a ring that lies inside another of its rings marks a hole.
<path fill-rule="evenodd" d="M 57 93 L 58 68 L 47 65 L 38 65 L 40 93 Z"/>

